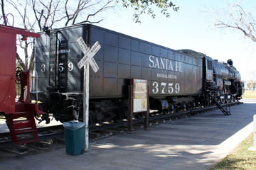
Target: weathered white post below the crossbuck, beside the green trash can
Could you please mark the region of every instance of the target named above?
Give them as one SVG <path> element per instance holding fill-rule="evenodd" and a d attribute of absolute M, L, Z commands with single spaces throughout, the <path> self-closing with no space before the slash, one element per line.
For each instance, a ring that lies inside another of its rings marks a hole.
<path fill-rule="evenodd" d="M 83 86 L 83 121 L 85 123 L 85 152 L 89 149 L 89 62 L 84 66 L 84 86 Z"/>

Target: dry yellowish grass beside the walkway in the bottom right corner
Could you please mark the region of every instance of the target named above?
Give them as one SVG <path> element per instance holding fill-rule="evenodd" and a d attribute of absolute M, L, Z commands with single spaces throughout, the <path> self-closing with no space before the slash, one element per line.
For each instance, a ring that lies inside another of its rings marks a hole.
<path fill-rule="evenodd" d="M 249 151 L 249 147 L 253 147 L 253 133 L 211 170 L 256 169 L 256 151 Z"/>

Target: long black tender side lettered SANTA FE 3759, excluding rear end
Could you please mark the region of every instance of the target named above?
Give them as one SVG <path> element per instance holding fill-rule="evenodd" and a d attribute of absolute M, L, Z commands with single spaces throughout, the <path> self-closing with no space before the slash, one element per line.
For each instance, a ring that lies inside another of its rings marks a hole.
<path fill-rule="evenodd" d="M 151 96 L 201 94 L 201 58 L 92 26 L 90 44 L 96 41 L 100 70 L 90 69 L 90 97 L 126 96 L 129 79 L 149 80 Z"/>

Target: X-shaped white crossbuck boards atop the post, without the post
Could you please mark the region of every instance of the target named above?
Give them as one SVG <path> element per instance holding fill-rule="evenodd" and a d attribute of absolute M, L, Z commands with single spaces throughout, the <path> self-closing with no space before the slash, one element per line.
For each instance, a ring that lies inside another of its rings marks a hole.
<path fill-rule="evenodd" d="M 82 53 L 84 54 L 84 57 L 82 57 L 82 59 L 78 62 L 79 69 L 81 69 L 87 62 L 89 62 L 93 71 L 97 72 L 99 67 L 93 57 L 100 50 L 100 42 L 95 42 L 91 48 L 85 44 L 85 41 L 82 40 L 82 37 L 78 38 L 77 42 L 82 49 Z"/>

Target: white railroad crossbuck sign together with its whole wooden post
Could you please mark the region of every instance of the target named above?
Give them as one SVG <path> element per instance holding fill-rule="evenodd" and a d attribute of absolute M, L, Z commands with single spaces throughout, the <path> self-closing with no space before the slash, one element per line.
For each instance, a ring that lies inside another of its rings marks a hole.
<path fill-rule="evenodd" d="M 80 46 L 84 57 L 78 62 L 78 67 L 84 67 L 84 86 L 83 86 L 83 121 L 85 123 L 85 152 L 89 149 L 89 81 L 90 81 L 90 66 L 94 72 L 99 70 L 97 63 L 94 60 L 95 54 L 100 50 L 100 43 L 95 42 L 90 48 L 85 44 L 82 38 L 78 38 L 78 45 Z"/>

